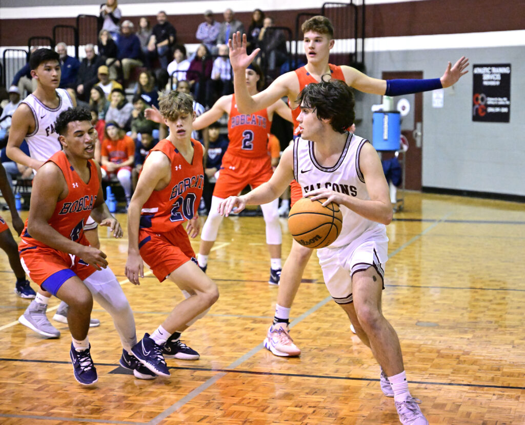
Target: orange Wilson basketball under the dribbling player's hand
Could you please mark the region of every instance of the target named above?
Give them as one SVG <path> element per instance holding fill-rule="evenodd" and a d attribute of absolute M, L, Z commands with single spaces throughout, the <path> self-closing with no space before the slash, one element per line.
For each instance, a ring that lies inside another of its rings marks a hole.
<path fill-rule="evenodd" d="M 343 215 L 339 205 L 331 202 L 323 207 L 326 200 L 301 198 L 290 209 L 288 229 L 303 247 L 328 247 L 341 233 Z"/>

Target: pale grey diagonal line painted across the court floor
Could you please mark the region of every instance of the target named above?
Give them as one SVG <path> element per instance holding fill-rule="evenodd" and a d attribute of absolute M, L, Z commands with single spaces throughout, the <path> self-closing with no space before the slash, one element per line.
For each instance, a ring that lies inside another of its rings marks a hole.
<path fill-rule="evenodd" d="M 408 245 L 410 245 L 411 243 L 414 243 L 416 240 L 418 240 L 419 238 L 421 238 L 422 236 L 426 235 L 426 233 L 428 233 L 430 230 L 434 229 L 437 225 L 439 225 L 441 222 L 443 222 L 447 217 L 450 217 L 450 215 L 452 215 L 453 213 L 450 212 L 450 213 L 447 213 L 445 214 L 445 216 L 443 216 L 442 218 L 440 218 L 439 220 L 435 221 L 432 225 L 430 225 L 429 227 L 427 227 L 425 230 L 423 230 L 421 233 L 419 233 L 419 235 L 416 235 L 414 236 L 412 239 L 410 239 L 408 242 L 406 242 L 404 245 L 402 245 L 400 248 L 396 249 L 395 251 L 393 251 L 390 256 L 388 256 L 388 258 L 392 258 L 393 256 L 395 256 L 395 254 L 397 254 L 398 252 L 400 252 L 402 249 L 406 248 Z M 301 322 L 302 320 L 304 320 L 304 318 L 308 317 L 310 314 L 316 312 L 317 310 L 319 310 L 324 304 L 327 304 L 329 301 L 332 300 L 332 297 L 331 296 L 327 296 L 327 298 L 325 298 L 324 300 L 320 301 L 319 303 L 317 303 L 316 305 L 314 305 L 310 310 L 304 312 L 303 314 L 301 314 L 299 317 L 297 317 L 295 320 L 293 320 L 291 323 L 290 323 L 290 327 L 292 326 L 295 326 L 297 325 L 299 322 Z M 234 368 L 236 367 L 237 365 L 245 362 L 245 360 L 247 360 L 248 358 L 250 358 L 251 356 L 253 356 L 255 353 L 257 353 L 260 349 L 262 349 L 264 346 L 263 344 L 259 344 L 257 345 L 256 347 L 252 348 L 248 353 L 246 353 L 245 355 L 239 357 L 237 360 L 235 360 L 235 362 L 233 362 L 231 365 L 228 366 L 228 368 Z M 220 375 L 220 376 L 218 376 Z M 156 425 L 158 424 L 159 422 L 161 422 L 162 420 L 166 419 L 169 415 L 171 415 L 171 413 L 175 412 L 177 409 L 181 408 L 182 406 L 185 405 L 185 403 L 187 403 L 188 401 L 191 401 L 193 398 L 197 397 L 198 395 L 200 395 L 203 391 L 205 391 L 211 384 L 214 384 L 219 378 L 222 378 L 223 376 L 225 376 L 226 373 L 224 372 L 220 372 L 219 374 L 215 375 L 214 377 L 208 379 L 204 384 L 202 384 L 201 386 L 195 388 L 193 391 L 191 391 L 189 394 L 187 394 L 185 397 L 183 397 L 182 399 L 178 400 L 177 402 L 175 402 L 172 406 L 170 406 L 169 408 L 167 408 L 166 410 L 164 410 L 162 413 L 160 413 L 160 415 L 154 417 L 151 421 L 148 422 L 148 425 Z M 209 384 L 208 384 L 209 383 Z M 191 396 L 190 396 L 191 395 Z"/>

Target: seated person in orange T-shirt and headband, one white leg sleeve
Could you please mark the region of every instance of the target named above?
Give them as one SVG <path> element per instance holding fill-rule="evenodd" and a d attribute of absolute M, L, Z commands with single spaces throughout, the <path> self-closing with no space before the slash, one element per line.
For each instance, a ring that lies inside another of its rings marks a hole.
<path fill-rule="evenodd" d="M 104 178 L 117 176 L 124 189 L 127 203 L 131 199 L 131 170 L 135 161 L 135 144 L 118 123 L 108 121 L 100 148 L 100 162 Z"/>

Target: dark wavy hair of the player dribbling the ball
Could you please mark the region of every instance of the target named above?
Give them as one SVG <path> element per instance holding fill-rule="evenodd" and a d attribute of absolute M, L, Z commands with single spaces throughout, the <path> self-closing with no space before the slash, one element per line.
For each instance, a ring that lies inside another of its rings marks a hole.
<path fill-rule="evenodd" d="M 352 89 L 341 80 L 328 80 L 324 75 L 320 83 L 310 83 L 299 93 L 296 103 L 316 110 L 317 118 L 330 120 L 334 131 L 344 133 L 355 119 L 355 100 Z"/>

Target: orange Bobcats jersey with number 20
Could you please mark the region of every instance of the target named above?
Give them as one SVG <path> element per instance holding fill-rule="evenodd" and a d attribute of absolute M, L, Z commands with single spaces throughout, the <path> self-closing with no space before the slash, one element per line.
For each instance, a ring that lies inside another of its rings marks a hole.
<path fill-rule="evenodd" d="M 194 152 L 191 164 L 167 139 L 157 143 L 148 154 L 160 151 L 168 157 L 171 179 L 164 189 L 153 190 L 145 202 L 140 217 L 141 229 L 154 233 L 169 232 L 197 215 L 204 185 L 203 147 L 194 139 L 192 145 Z"/>

